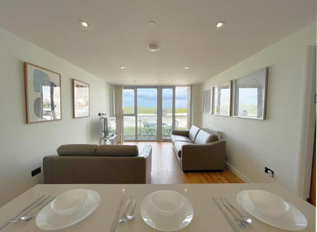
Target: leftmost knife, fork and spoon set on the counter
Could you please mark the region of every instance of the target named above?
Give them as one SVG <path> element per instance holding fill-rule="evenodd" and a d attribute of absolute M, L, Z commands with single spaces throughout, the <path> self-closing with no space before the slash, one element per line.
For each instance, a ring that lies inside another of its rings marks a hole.
<path fill-rule="evenodd" d="M 44 208 L 47 204 L 55 199 L 55 197 L 51 197 L 51 195 L 45 198 L 44 197 L 45 195 L 40 196 L 31 204 L 29 204 L 26 208 L 22 209 L 14 218 L 6 221 L 3 225 L 1 225 L 0 230 L 8 225 L 10 222 L 20 222 L 35 217 L 42 208 Z"/>

